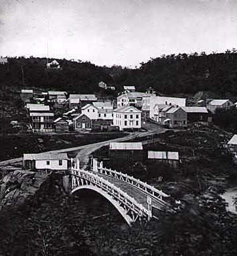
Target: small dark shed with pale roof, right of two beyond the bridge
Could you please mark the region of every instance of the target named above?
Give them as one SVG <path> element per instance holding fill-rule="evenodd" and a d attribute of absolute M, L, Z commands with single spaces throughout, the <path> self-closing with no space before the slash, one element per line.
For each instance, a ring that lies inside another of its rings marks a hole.
<path fill-rule="evenodd" d="M 179 167 L 179 153 L 165 151 L 148 151 L 148 160 L 169 165 L 172 169 Z"/>

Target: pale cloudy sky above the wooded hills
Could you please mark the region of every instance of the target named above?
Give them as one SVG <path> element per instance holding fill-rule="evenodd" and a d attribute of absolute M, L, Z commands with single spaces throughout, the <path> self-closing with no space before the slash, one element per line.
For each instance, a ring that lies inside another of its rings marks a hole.
<path fill-rule="evenodd" d="M 237 0 L 0 0 L 0 54 L 135 67 L 237 48 Z"/>

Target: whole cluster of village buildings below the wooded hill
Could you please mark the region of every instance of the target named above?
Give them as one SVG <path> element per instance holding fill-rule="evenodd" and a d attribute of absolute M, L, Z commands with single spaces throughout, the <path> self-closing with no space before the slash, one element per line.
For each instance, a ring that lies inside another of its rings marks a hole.
<path fill-rule="evenodd" d="M 31 89 L 21 90 L 21 99 L 25 103 L 33 101 L 37 104 L 29 108 L 29 116 L 33 131 L 41 132 L 66 131 L 69 126 L 76 131 L 139 130 L 142 119 L 175 128 L 192 122 L 212 122 L 212 114 L 218 108 L 228 109 L 234 105 L 229 99 L 210 99 L 187 106 L 185 98 L 157 96 L 152 88 L 141 93 L 135 91 L 134 86 L 124 87 L 123 93 L 113 101 L 98 99 L 94 94 L 68 94 L 66 91 L 34 93 Z M 68 112 L 54 118 L 54 112 L 49 106 L 42 106 L 43 103 L 56 104 Z"/>

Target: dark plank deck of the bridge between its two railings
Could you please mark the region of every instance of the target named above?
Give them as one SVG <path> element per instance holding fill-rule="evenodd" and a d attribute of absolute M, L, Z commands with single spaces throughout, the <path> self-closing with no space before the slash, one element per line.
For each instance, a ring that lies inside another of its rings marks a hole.
<path fill-rule="evenodd" d="M 93 172 L 95 173 L 95 172 Z M 114 177 L 110 177 L 108 175 L 104 175 L 102 173 L 95 173 L 96 175 L 103 177 L 110 183 L 113 183 L 116 187 L 121 188 L 124 192 L 126 192 L 129 196 L 134 198 L 139 204 L 142 204 L 147 210 L 148 210 L 148 204 L 147 204 L 147 194 L 145 191 L 142 191 L 138 189 L 137 187 L 134 187 L 133 185 L 130 185 L 129 183 L 126 183 L 125 181 L 122 181 L 120 179 L 114 179 Z M 160 210 L 164 210 L 165 207 L 155 198 L 152 198 L 152 206 L 155 206 L 156 208 Z"/>

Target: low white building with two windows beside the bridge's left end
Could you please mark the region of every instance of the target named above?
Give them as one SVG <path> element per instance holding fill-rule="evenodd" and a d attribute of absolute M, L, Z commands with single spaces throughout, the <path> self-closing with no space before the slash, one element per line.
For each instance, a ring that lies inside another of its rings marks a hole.
<path fill-rule="evenodd" d="M 33 171 L 66 171 L 69 165 L 66 153 L 23 154 L 23 167 Z"/>

